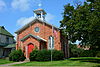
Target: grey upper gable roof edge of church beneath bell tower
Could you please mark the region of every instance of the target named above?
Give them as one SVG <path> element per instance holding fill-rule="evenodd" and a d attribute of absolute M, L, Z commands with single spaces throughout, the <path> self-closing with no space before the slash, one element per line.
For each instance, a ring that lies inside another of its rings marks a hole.
<path fill-rule="evenodd" d="M 31 24 L 35 23 L 36 21 L 45 23 L 45 24 L 47 24 L 47 25 L 49 25 L 49 26 L 53 26 L 53 25 L 47 23 L 46 21 L 42 21 L 41 19 L 35 18 L 35 19 L 33 19 L 31 22 L 29 22 L 28 24 L 24 25 L 24 26 L 23 26 L 22 28 L 20 28 L 19 30 L 17 30 L 15 33 L 21 32 L 22 30 L 26 29 L 27 27 L 29 27 Z M 53 26 L 53 27 L 56 28 L 57 30 L 59 30 L 58 27 L 56 27 L 56 26 Z"/>

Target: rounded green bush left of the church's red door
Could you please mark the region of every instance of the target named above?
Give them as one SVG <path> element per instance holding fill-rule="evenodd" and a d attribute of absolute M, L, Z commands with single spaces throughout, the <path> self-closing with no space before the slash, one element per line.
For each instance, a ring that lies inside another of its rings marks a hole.
<path fill-rule="evenodd" d="M 24 61 L 25 60 L 24 53 L 22 52 L 22 50 L 12 51 L 9 54 L 9 60 L 10 61 Z"/>

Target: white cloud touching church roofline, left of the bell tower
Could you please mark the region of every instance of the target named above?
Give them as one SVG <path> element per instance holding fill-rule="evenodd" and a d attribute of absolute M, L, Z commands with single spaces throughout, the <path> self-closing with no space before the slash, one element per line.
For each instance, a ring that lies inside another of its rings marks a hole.
<path fill-rule="evenodd" d="M 34 19 L 34 17 L 22 17 L 19 20 L 17 20 L 17 25 L 24 26 L 25 24 L 31 22 Z"/>

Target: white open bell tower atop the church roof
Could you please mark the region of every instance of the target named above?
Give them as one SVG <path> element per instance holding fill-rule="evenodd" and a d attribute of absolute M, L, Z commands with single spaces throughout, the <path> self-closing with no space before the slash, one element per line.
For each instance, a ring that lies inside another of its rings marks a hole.
<path fill-rule="evenodd" d="M 46 12 L 43 9 L 37 9 L 37 10 L 34 10 L 33 12 L 34 12 L 35 18 L 45 21 Z"/>

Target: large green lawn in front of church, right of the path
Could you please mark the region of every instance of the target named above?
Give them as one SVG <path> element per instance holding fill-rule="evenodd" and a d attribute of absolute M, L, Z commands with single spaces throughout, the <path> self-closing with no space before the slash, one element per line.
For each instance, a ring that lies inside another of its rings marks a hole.
<path fill-rule="evenodd" d="M 62 61 L 48 61 L 48 62 L 27 62 L 16 64 L 14 66 L 80 66 L 80 67 L 100 67 L 100 58 L 95 57 L 80 57 L 70 58 Z"/>

